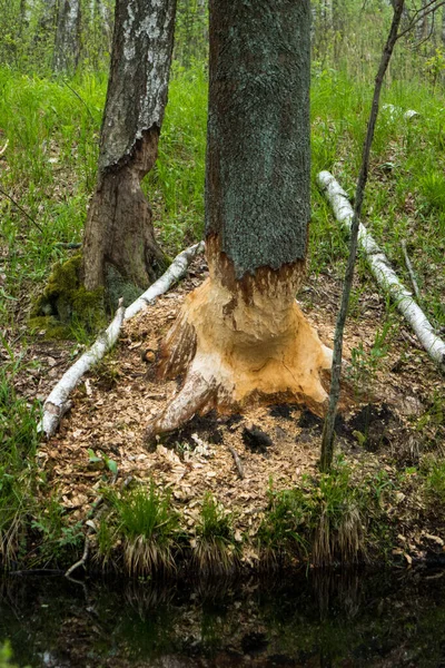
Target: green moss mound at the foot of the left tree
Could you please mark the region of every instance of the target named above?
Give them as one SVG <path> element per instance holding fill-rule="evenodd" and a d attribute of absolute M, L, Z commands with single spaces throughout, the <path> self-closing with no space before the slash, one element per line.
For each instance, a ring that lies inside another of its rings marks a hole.
<path fill-rule="evenodd" d="M 30 326 L 44 330 L 46 338 L 77 338 L 106 323 L 103 289 L 89 292 L 80 282 L 81 256 L 56 264 L 31 313 Z"/>

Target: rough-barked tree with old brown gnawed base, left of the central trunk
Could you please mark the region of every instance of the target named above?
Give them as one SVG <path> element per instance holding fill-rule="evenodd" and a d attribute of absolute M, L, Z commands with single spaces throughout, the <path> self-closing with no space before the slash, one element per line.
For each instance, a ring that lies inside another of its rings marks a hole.
<path fill-rule="evenodd" d="M 82 277 L 111 301 L 166 268 L 140 183 L 152 168 L 167 104 L 176 0 L 117 0 L 97 189 L 88 212 Z M 116 294 L 115 294 L 116 293 Z"/>

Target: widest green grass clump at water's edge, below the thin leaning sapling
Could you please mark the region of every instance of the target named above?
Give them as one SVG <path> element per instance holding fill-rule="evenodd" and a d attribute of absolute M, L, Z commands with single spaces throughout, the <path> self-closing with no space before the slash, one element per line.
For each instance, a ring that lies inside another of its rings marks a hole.
<path fill-rule="evenodd" d="M 389 483 L 383 485 L 380 475 L 354 480 L 349 466 L 338 460 L 317 480 L 304 477 L 299 488 L 270 487 L 258 531 L 264 558 L 309 560 L 315 566 L 366 560 L 374 542 L 386 537 L 382 502 Z"/>

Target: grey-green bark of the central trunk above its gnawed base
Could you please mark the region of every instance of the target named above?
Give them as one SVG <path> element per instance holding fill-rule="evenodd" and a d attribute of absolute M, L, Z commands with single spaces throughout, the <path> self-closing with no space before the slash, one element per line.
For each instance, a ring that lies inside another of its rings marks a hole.
<path fill-rule="evenodd" d="M 306 254 L 309 53 L 307 0 L 210 0 L 206 235 L 237 278 Z"/>

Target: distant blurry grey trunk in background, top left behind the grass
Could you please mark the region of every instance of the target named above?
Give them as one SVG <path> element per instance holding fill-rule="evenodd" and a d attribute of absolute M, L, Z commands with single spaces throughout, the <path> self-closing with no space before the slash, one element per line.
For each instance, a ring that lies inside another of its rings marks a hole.
<path fill-rule="evenodd" d="M 59 0 L 53 70 L 73 75 L 79 61 L 80 0 Z"/>

